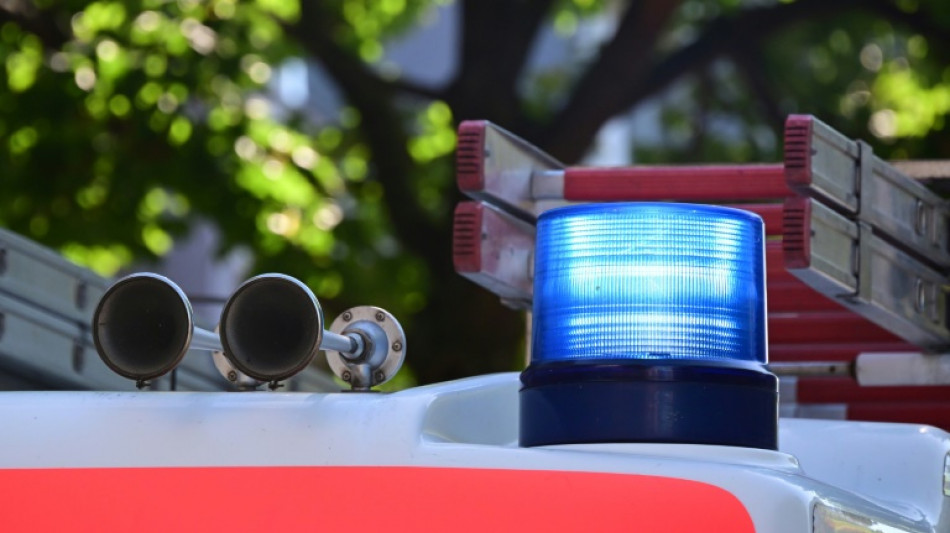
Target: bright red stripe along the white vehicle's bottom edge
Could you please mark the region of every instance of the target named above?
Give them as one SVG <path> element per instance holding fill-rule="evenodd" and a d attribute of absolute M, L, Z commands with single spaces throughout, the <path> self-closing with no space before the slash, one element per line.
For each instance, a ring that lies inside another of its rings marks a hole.
<path fill-rule="evenodd" d="M 3 531 L 755 531 L 719 487 L 591 472 L 2 469 L 0 487 Z"/>

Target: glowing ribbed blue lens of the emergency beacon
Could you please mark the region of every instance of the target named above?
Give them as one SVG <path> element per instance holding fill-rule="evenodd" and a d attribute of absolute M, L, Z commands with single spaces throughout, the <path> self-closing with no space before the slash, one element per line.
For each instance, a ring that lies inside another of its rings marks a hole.
<path fill-rule="evenodd" d="M 533 362 L 765 363 L 758 216 L 690 204 L 585 204 L 538 220 Z"/>

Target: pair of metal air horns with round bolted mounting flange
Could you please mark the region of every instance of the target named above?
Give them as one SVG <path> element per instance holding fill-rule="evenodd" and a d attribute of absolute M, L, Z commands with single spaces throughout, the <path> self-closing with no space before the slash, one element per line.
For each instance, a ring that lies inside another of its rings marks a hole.
<path fill-rule="evenodd" d="M 245 388 L 276 388 L 320 350 L 327 350 L 330 368 L 354 390 L 369 390 L 402 366 L 405 335 L 383 309 L 355 307 L 331 331 L 323 327 L 323 311 L 310 289 L 283 274 L 241 285 L 224 307 L 219 335 L 195 327 L 191 304 L 174 282 L 139 273 L 106 291 L 93 318 L 93 339 L 105 364 L 139 387 L 175 368 L 189 349 L 214 352 L 218 370 Z"/>

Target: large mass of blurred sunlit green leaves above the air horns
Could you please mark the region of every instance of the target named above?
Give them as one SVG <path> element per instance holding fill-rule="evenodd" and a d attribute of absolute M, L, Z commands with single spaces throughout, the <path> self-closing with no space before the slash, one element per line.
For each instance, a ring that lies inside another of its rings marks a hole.
<path fill-rule="evenodd" d="M 324 8 L 342 20 L 332 38 L 372 62 L 432 5 Z M 321 298 L 372 302 L 406 320 L 426 305 L 425 267 L 392 234 L 360 112 L 345 107 L 314 125 L 272 92 L 284 61 L 300 57 L 285 34 L 299 2 L 68 7 L 41 7 L 65 23 L 63 42 L 0 26 L 0 223 L 111 275 L 212 220 L 222 249 L 251 248 L 255 268 L 296 275 Z M 446 206 L 448 169 L 437 166 L 454 147 L 451 122 L 441 103 L 405 115 L 411 150 L 431 166 L 416 183 L 427 208 Z"/>

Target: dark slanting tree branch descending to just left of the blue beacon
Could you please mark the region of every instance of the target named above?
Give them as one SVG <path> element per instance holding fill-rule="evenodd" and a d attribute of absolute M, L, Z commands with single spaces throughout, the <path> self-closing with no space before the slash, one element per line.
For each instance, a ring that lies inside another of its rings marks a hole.
<path fill-rule="evenodd" d="M 359 58 L 333 42 L 329 37 L 333 24 L 328 22 L 332 15 L 320 13 L 314 4 L 301 4 L 301 22 L 288 32 L 323 62 L 349 103 L 362 113 L 361 130 L 385 188 L 396 235 L 428 265 L 432 287 L 428 303 L 407 329 L 417 377 L 427 383 L 511 368 L 511 350 L 521 335 L 522 322 L 514 312 L 501 308 L 494 294 L 455 273 L 447 248 L 450 225 L 433 226 L 420 209 L 408 180 L 415 164 L 407 153 L 405 125 L 395 107 L 398 86 L 380 80 Z M 476 80 L 476 86 L 483 85 L 482 81 Z M 465 305 L 460 306 L 460 301 Z"/>

